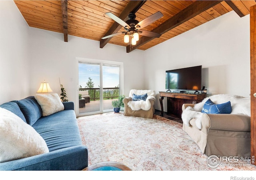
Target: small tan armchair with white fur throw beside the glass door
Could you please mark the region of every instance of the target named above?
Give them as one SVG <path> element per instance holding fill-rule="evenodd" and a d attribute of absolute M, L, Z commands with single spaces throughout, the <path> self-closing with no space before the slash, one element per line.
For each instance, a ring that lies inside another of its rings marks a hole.
<path fill-rule="evenodd" d="M 135 95 L 147 94 L 146 100 L 132 100 Z M 130 90 L 129 97 L 123 99 L 124 116 L 153 118 L 155 112 L 156 93 L 154 90 Z"/>

